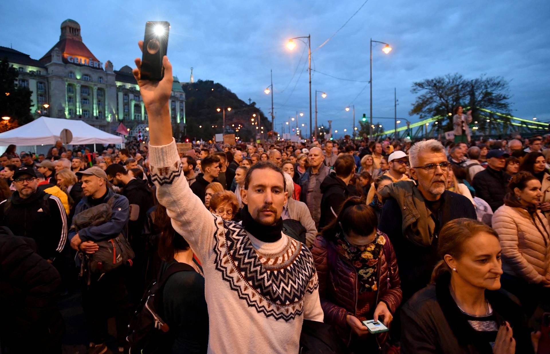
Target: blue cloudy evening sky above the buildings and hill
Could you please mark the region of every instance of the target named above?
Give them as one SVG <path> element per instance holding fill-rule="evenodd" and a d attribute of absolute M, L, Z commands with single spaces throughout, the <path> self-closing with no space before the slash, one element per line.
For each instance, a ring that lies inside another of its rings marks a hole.
<path fill-rule="evenodd" d="M 510 80 L 513 113 L 550 121 L 550 2 L 369 0 L 332 40 L 365 0 L 328 1 L 102 1 L 30 0 L 0 3 L 0 45 L 40 58 L 57 42 L 59 25 L 80 23 L 84 43 L 115 69 L 133 65 L 140 56 L 136 42 L 147 20 L 167 20 L 172 29 L 168 56 L 180 81 L 214 80 L 243 99 L 257 102 L 267 115 L 271 97 L 263 93 L 273 69 L 274 111 L 280 127 L 296 110 L 309 120 L 307 49 L 299 43 L 290 52 L 288 38 L 311 34 L 312 90 L 319 96 L 318 123 L 333 120 L 339 132 L 351 129 L 366 113 L 369 96 L 368 40 L 388 42 L 386 55 L 373 48 L 373 116 L 393 117 L 397 89 L 398 117 L 409 117 L 415 96 L 411 84 L 447 73 L 466 78 L 481 74 Z M 301 61 L 300 61 L 301 59 Z M 313 99 L 313 105 L 315 100 Z M 315 107 L 313 107 L 315 116 Z M 376 119 L 392 129 L 393 120 Z"/>

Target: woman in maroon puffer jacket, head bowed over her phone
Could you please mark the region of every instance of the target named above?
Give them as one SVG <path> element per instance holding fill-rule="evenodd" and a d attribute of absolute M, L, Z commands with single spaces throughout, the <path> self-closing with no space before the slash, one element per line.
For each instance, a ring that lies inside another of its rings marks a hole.
<path fill-rule="evenodd" d="M 362 321 L 388 327 L 403 297 L 392 244 L 377 224 L 374 209 L 351 197 L 311 250 L 325 322 L 356 353 L 377 350 L 387 340 L 387 333 L 370 334 Z"/>

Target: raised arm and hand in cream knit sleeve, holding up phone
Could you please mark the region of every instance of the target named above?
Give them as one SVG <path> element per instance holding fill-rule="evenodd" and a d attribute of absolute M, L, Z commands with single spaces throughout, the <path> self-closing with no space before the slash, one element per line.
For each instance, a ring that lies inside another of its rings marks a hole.
<path fill-rule="evenodd" d="M 139 42 L 140 48 L 143 42 Z M 172 64 L 164 56 L 164 78 L 159 82 L 141 80 L 141 60 L 135 59 L 133 70 L 149 117 L 149 166 L 151 179 L 157 186 L 158 202 L 166 207 L 174 230 L 183 235 L 202 262 L 212 250 L 214 234 L 219 226 L 199 197 L 189 188 L 182 173 L 182 162 L 172 137 L 169 98 L 172 94 Z"/>

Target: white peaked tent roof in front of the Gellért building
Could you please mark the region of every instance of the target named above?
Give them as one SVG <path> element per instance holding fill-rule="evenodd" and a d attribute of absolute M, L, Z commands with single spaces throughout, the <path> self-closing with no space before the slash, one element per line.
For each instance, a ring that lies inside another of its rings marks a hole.
<path fill-rule="evenodd" d="M 0 134 L 0 145 L 54 145 L 63 129 L 73 133 L 71 145 L 120 144 L 122 136 L 108 134 L 81 120 L 40 117 L 30 123 Z"/>

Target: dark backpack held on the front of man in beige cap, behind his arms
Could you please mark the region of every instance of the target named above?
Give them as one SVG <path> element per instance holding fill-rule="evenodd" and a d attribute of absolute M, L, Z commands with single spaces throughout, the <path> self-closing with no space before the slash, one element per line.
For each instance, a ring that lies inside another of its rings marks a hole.
<path fill-rule="evenodd" d="M 74 215 L 71 228 L 79 231 L 89 226 L 106 223 L 113 215 L 113 203 L 118 197 L 120 196 L 115 194 L 106 203 L 101 203 Z M 126 263 L 131 266 L 135 253 L 128 239 L 122 233 L 111 240 L 98 241 L 96 244 L 100 248 L 91 255 L 79 251 L 79 258 L 82 261 L 81 276 L 85 273 L 84 268 L 90 273 L 107 273 Z"/>

